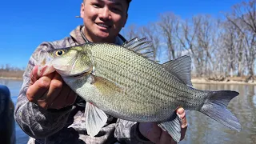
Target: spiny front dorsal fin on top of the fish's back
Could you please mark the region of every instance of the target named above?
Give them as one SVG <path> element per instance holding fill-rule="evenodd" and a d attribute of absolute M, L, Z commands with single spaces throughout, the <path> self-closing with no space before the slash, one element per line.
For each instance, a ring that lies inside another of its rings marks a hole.
<path fill-rule="evenodd" d="M 124 42 L 122 46 L 126 47 L 128 50 L 132 50 L 135 53 L 142 55 L 144 58 L 156 62 L 154 58 L 153 46 L 150 44 L 150 42 L 146 41 L 146 38 L 133 38 L 129 42 Z"/>

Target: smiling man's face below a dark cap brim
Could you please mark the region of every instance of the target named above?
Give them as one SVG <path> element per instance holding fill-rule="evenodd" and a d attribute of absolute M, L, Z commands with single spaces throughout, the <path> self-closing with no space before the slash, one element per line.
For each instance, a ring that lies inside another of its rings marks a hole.
<path fill-rule="evenodd" d="M 86 38 L 92 42 L 114 42 L 126 24 L 127 8 L 125 0 L 85 0 L 80 13 Z"/>

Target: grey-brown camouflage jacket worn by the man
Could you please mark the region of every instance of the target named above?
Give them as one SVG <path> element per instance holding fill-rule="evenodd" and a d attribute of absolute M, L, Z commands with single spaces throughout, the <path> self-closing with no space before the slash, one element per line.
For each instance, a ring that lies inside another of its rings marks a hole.
<path fill-rule="evenodd" d="M 109 116 L 108 121 L 98 135 L 86 134 L 84 106 L 77 101 L 74 106 L 62 110 L 44 110 L 29 102 L 26 90 L 30 83 L 30 71 L 38 62 L 41 50 L 53 50 L 85 43 L 82 38 L 83 26 L 70 32 L 70 37 L 54 42 L 42 42 L 30 57 L 23 74 L 23 84 L 15 107 L 15 120 L 26 134 L 34 138 L 32 143 L 151 143 L 138 133 L 138 123 Z M 120 36 L 120 35 L 119 35 Z M 122 44 L 121 36 L 116 44 Z M 79 97 L 78 97 L 79 98 Z M 80 99 L 81 101 L 81 99 Z"/>

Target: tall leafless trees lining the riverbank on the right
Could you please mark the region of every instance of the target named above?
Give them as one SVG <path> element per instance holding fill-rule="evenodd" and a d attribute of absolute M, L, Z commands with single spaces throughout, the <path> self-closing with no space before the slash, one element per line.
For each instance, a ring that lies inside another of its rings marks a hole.
<path fill-rule="evenodd" d="M 189 54 L 193 76 L 210 79 L 230 77 L 254 81 L 256 56 L 255 0 L 241 2 L 218 18 L 209 14 L 182 19 L 173 13 L 161 14 L 147 26 L 130 25 L 123 30 L 127 39 L 148 38 L 154 57 L 160 61 Z"/>

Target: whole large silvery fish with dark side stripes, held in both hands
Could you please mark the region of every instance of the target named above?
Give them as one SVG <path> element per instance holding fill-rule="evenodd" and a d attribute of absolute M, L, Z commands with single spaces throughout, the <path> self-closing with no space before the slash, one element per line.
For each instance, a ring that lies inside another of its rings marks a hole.
<path fill-rule="evenodd" d="M 145 38 L 134 38 L 122 46 L 86 43 L 47 52 L 50 66 L 86 100 L 88 134 L 98 134 L 110 114 L 134 122 L 158 122 L 179 142 L 181 122 L 175 114 L 179 106 L 241 130 L 238 118 L 226 108 L 238 92 L 195 89 L 189 56 L 158 64 L 151 48 Z"/>

